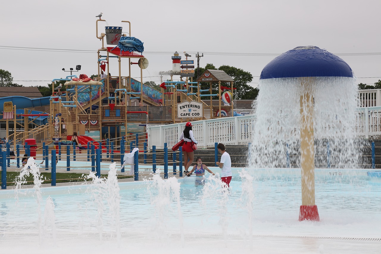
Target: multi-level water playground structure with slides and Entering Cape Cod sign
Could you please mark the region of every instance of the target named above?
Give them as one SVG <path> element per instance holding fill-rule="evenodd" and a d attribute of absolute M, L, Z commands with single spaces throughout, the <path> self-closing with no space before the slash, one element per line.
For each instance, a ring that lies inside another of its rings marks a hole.
<path fill-rule="evenodd" d="M 143 84 L 142 70 L 147 68 L 148 60 L 142 55 L 143 43 L 131 37 L 130 21 L 121 21 L 128 24 L 128 37 L 122 34 L 122 27 L 105 27 L 106 33 L 99 33 L 98 22 L 106 20 L 96 20 L 96 38 L 101 40 L 97 78 L 92 80 L 81 74 L 79 77 L 70 75 L 65 79 L 53 79 L 52 96 L 43 98 L 1 98 L 0 107 L 5 102 L 13 103 L 14 117 L 9 121 L 14 122 L 14 131 L 9 132 L 6 119 L 6 136 L 14 150 L 16 145 L 24 145 L 25 140 L 30 138 L 36 140 L 38 148 L 42 148 L 43 142 L 46 145 L 58 145 L 59 141 L 68 143 L 74 132 L 78 133 L 79 145 L 86 146 L 88 141 L 96 141 L 95 144 L 102 150 L 106 138 L 114 139 L 119 150 L 119 137 L 125 137 L 128 142 L 135 141 L 135 134 L 140 133 L 138 143 L 142 149 L 144 141 L 147 141 L 147 124 L 173 124 L 233 115 L 233 103 L 221 105 L 223 92 L 229 90 L 233 93 L 234 90 L 234 80 L 225 72 L 206 70 L 196 82 L 192 78 L 188 82 L 188 77 L 184 81 L 173 81 L 171 76 L 171 80 L 163 82 L 161 91 L 158 91 Z M 106 43 L 115 47 L 105 47 Z M 178 58 L 181 59 L 181 56 Z M 122 59 L 128 59 L 128 74 L 124 76 Z M 109 75 L 110 64 L 114 64 L 114 60 L 118 62 L 117 76 Z M 131 69 L 136 67 L 140 68 L 140 80 L 131 77 Z M 102 71 L 108 74 L 106 78 L 101 79 Z M 66 81 L 64 92 L 61 92 L 61 85 L 56 87 L 56 81 L 61 80 Z M 210 88 L 201 89 L 200 82 L 209 82 Z M 218 84 L 218 89 L 212 87 L 213 83 Z M 230 87 L 224 87 L 225 84 Z M 201 100 L 205 97 L 210 98 L 210 105 Z M 213 106 L 213 97 L 219 99 L 218 106 Z M 144 106 L 139 106 L 138 100 Z M 197 102 L 200 110 L 194 115 L 180 116 L 178 105 L 184 102 Z M 35 106 L 49 106 L 49 109 L 45 112 L 31 110 Z M 32 129 L 31 124 L 38 127 Z M 17 131 L 20 129 L 23 131 Z"/>

